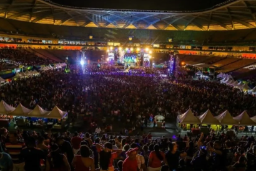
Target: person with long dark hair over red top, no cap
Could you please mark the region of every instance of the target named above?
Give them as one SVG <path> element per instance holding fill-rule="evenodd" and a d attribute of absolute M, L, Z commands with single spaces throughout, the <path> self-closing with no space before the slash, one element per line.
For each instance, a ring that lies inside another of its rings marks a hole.
<path fill-rule="evenodd" d="M 164 161 L 165 154 L 159 150 L 159 145 L 155 144 L 154 151 L 150 152 L 149 163 L 147 170 L 158 171 L 162 167 L 162 162 Z"/>

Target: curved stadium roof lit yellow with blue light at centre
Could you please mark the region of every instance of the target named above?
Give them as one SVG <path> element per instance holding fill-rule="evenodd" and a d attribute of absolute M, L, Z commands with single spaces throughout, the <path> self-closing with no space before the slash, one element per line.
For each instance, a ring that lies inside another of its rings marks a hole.
<path fill-rule="evenodd" d="M 101 2 L 101 1 L 99 1 Z M 256 0 L 227 0 L 205 10 L 71 7 L 46 0 L 1 0 L 0 17 L 41 24 L 159 30 L 255 28 Z"/>

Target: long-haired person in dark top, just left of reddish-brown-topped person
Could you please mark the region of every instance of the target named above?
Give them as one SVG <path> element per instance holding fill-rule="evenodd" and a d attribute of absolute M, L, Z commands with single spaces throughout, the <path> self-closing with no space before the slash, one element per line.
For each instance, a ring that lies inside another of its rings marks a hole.
<path fill-rule="evenodd" d="M 57 144 L 51 147 L 51 153 L 47 157 L 46 171 L 71 171 L 66 155 L 61 154 Z"/>

